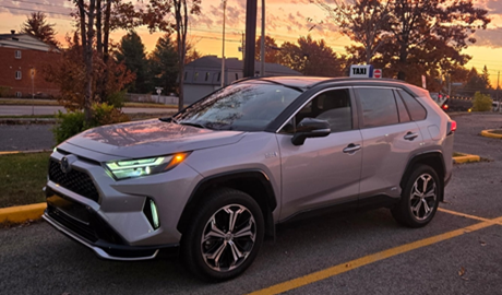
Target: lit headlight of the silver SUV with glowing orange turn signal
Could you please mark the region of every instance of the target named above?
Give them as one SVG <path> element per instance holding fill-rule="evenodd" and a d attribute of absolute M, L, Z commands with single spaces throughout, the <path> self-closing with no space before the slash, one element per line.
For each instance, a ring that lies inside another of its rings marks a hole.
<path fill-rule="evenodd" d="M 187 156 L 188 153 L 179 153 L 148 158 L 111 161 L 105 165 L 115 178 L 125 179 L 166 172 L 183 162 Z"/>

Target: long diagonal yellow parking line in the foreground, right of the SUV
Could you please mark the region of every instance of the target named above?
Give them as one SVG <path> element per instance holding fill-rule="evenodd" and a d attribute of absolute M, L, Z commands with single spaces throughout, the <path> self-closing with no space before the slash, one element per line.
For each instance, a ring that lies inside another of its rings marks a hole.
<path fill-rule="evenodd" d="M 433 244 L 437 244 L 437 243 L 440 243 L 446 239 L 462 236 L 467 233 L 471 233 L 471 232 L 479 231 L 479 229 L 482 229 L 482 228 L 486 228 L 486 227 L 489 227 L 495 224 L 500 224 L 501 222 L 502 222 L 502 217 L 499 217 L 495 220 L 487 220 L 487 221 L 483 221 L 483 222 L 480 222 L 480 223 L 477 223 L 477 224 L 474 224 L 474 225 L 470 225 L 464 228 L 455 229 L 449 233 L 444 233 L 444 234 L 437 235 L 433 237 L 409 243 L 409 244 L 398 246 L 392 249 L 387 249 L 381 252 L 372 253 L 372 255 L 369 255 L 362 258 L 358 258 L 358 259 L 355 259 L 355 260 L 351 260 L 351 261 L 348 261 L 348 262 L 345 262 L 345 263 L 342 263 L 335 267 L 331 267 L 331 268 L 327 268 L 327 269 L 324 269 L 318 272 L 307 274 L 301 278 L 297 278 L 297 279 L 294 279 L 294 280 L 290 280 L 284 283 L 279 283 L 279 284 L 276 284 L 276 285 L 263 288 L 263 290 L 259 290 L 250 294 L 251 295 L 259 295 L 259 294 L 268 295 L 268 294 L 279 294 L 283 292 L 287 292 L 287 291 L 298 288 L 298 287 L 301 287 L 308 284 L 312 284 L 312 283 L 325 280 L 327 278 L 331 278 L 331 276 L 334 276 L 334 275 L 337 275 L 337 274 L 340 274 L 340 273 L 393 257 L 393 256 L 405 253 L 405 252 L 408 252 L 408 251 L 411 251 L 418 248 L 422 248 L 422 247 L 430 246 L 430 245 L 433 245 Z"/>

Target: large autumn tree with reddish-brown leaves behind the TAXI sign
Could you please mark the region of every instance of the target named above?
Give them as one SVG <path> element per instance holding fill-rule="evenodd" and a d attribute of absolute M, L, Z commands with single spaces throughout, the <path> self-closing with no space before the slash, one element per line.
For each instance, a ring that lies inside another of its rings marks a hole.
<path fill-rule="evenodd" d="M 360 20 L 371 20 L 371 14 L 361 14 L 366 16 L 360 19 L 345 13 L 332 20 L 342 27 L 351 26 L 354 32 L 340 32 L 362 47 L 379 45 L 372 63 L 385 69 L 384 75 L 414 84 L 421 84 L 421 75 L 429 80 L 440 79 L 464 66 L 470 57 L 462 50 L 476 42 L 473 33 L 486 28 L 490 22 L 488 12 L 475 8 L 471 0 L 355 0 L 348 9 L 363 12 L 368 5 L 375 7 L 373 11 L 376 12 L 387 8 L 382 15 L 386 21 L 376 34 L 380 38 L 372 38 L 374 32 L 360 25 Z M 364 39 L 373 39 L 373 45 L 371 42 L 364 44 Z M 349 51 L 361 56 L 357 48 L 349 48 Z"/>

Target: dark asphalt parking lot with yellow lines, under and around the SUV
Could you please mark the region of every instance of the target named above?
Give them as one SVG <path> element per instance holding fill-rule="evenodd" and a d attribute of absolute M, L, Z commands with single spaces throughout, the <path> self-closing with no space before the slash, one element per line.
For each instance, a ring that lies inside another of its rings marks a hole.
<path fill-rule="evenodd" d="M 500 115 L 455 116 L 455 151 L 489 161 L 454 166 L 425 228 L 385 209 L 279 226 L 240 278 L 208 284 L 176 258 L 99 260 L 44 222 L 0 229 L 2 294 L 502 294 Z"/>

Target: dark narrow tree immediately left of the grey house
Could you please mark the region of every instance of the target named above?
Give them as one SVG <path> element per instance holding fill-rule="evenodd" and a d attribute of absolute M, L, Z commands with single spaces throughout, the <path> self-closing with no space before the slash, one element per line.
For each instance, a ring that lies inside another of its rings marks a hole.
<path fill-rule="evenodd" d="M 155 49 L 150 57 L 155 86 L 162 86 L 164 93 L 176 92 L 178 73 L 178 52 L 171 40 L 171 35 L 166 34 L 158 38 Z"/>

